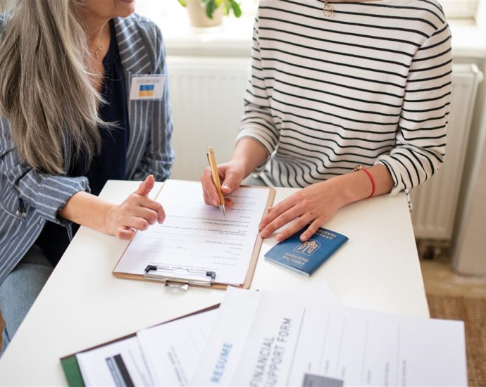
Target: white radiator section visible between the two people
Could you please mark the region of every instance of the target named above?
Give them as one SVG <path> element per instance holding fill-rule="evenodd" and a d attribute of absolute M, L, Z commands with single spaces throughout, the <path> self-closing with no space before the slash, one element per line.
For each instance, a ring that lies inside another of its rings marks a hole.
<path fill-rule="evenodd" d="M 175 163 L 170 177 L 199 180 L 212 146 L 230 159 L 243 114 L 249 58 L 168 57 Z"/>

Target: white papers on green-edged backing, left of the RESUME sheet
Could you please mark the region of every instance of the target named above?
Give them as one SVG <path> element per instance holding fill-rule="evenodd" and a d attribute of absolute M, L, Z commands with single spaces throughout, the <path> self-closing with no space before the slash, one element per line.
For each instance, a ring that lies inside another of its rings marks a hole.
<path fill-rule="evenodd" d="M 86 386 L 188 386 L 217 312 L 152 326 L 77 353 L 82 381 Z"/>

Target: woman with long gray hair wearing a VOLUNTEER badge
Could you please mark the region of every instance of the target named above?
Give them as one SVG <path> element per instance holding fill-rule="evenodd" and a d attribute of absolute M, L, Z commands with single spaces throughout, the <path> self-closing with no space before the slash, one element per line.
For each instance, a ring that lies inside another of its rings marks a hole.
<path fill-rule="evenodd" d="M 3 349 L 77 224 L 130 239 L 164 220 L 147 196 L 173 163 L 165 49 L 134 11 L 135 0 L 17 0 L 0 18 Z M 107 179 L 144 182 L 115 205 L 97 196 Z"/>

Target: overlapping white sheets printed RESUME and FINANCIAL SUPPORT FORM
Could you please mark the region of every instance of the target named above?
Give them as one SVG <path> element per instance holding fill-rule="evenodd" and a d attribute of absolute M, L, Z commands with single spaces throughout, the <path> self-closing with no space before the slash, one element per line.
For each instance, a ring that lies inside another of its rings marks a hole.
<path fill-rule="evenodd" d="M 464 324 L 229 287 L 194 386 L 466 386 Z"/>

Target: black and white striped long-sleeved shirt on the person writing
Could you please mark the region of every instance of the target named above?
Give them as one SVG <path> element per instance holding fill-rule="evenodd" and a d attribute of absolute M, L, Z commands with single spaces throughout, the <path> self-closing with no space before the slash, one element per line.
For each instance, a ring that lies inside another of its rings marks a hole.
<path fill-rule="evenodd" d="M 392 194 L 444 160 L 451 34 L 436 0 L 261 0 L 238 139 L 264 177 L 301 187 L 382 163 Z"/>

